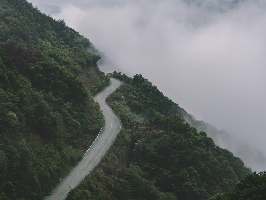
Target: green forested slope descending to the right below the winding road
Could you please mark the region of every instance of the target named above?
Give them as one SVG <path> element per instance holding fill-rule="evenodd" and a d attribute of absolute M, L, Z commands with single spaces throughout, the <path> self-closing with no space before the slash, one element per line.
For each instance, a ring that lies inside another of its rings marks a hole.
<path fill-rule="evenodd" d="M 68 199 L 209 199 L 251 173 L 241 159 L 185 122 L 178 104 L 136 74 L 110 107 L 123 123 L 114 146 Z"/>

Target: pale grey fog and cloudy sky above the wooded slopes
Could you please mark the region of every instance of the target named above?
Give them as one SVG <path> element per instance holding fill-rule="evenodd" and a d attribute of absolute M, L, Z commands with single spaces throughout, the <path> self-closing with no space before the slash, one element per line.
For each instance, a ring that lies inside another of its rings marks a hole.
<path fill-rule="evenodd" d="M 266 152 L 265 0 L 45 3 L 112 59 L 102 71 L 142 74 L 197 119 Z"/>

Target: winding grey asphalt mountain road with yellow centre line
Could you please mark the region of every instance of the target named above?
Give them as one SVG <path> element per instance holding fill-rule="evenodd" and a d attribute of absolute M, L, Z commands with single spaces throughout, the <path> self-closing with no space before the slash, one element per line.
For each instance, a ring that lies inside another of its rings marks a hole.
<path fill-rule="evenodd" d="M 122 81 L 110 78 L 110 82 L 111 83 L 108 87 L 94 97 L 94 100 L 100 104 L 105 117 L 105 125 L 102 128 L 99 137 L 69 175 L 53 189 L 51 195 L 45 197 L 43 200 L 64 200 L 70 189 L 76 187 L 81 181 L 83 181 L 90 171 L 92 171 L 92 169 L 98 164 L 115 140 L 116 135 L 121 128 L 121 122 L 107 105 L 105 100 L 110 93 L 114 92 L 115 89 L 120 86 Z"/>

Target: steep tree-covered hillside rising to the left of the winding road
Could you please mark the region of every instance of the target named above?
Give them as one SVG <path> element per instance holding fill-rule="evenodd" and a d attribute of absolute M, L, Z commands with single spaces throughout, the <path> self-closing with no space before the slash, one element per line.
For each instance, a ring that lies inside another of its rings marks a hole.
<path fill-rule="evenodd" d="M 26 0 L 0 1 L 0 199 L 42 199 L 95 139 L 97 52 Z"/>

